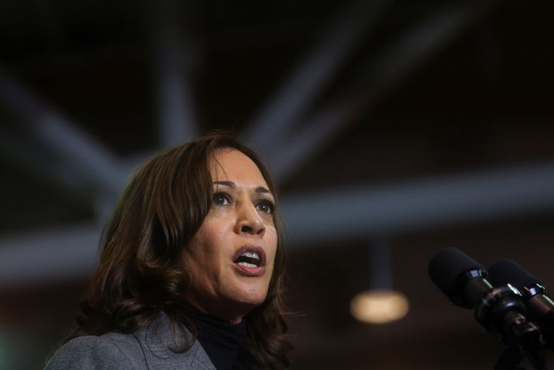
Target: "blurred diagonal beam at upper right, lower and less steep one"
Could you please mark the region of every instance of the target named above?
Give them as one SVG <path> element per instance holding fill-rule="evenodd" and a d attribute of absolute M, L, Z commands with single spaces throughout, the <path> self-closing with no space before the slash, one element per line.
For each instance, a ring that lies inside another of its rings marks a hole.
<path fill-rule="evenodd" d="M 287 137 L 276 136 L 274 145 L 266 151 L 267 166 L 276 180 L 284 182 L 361 112 L 379 103 L 498 2 L 480 0 L 442 6 L 404 33 L 377 55 L 365 75 L 357 76 L 352 84 L 354 93 L 336 96 L 308 119 L 303 130 Z"/>

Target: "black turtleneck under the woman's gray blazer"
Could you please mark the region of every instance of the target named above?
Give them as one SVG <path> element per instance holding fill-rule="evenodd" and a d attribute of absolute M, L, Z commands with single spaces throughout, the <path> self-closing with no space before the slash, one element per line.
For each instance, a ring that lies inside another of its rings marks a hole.
<path fill-rule="evenodd" d="M 217 370 L 251 370 L 255 369 L 251 355 L 244 349 L 247 336 L 247 322 L 230 324 L 200 312 L 183 301 L 181 307 L 198 332 L 198 342 L 208 353 Z"/>

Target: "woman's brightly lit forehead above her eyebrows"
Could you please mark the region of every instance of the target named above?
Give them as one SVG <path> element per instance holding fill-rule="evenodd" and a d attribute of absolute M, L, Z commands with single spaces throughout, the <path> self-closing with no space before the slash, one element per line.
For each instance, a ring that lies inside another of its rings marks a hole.
<path fill-rule="evenodd" d="M 258 166 L 243 152 L 233 148 L 220 148 L 214 154 L 216 163 L 211 166 L 213 181 L 231 181 L 242 186 L 267 188 Z"/>

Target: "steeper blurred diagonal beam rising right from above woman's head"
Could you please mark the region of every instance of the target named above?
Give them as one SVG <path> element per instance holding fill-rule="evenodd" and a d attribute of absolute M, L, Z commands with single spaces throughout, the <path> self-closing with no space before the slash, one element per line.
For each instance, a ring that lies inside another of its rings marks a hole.
<path fill-rule="evenodd" d="M 245 141 L 264 150 L 280 143 L 391 3 L 392 0 L 361 0 L 350 4 L 262 107 L 251 122 Z"/>

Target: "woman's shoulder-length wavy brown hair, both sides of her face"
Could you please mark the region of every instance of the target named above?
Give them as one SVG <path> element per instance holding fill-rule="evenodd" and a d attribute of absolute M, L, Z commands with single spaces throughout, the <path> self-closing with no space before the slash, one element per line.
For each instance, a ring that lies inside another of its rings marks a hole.
<path fill-rule="evenodd" d="M 252 159 L 276 196 L 264 164 L 228 134 L 214 132 L 152 157 L 129 181 L 111 215 L 102 236 L 100 265 L 66 341 L 113 331 L 132 333 L 162 310 L 173 322 L 184 319 L 190 328 L 178 306 L 190 282 L 181 253 L 211 208 L 210 168 L 217 148 L 234 148 Z M 278 244 L 267 298 L 246 316 L 247 349 L 268 368 L 288 367 L 287 352 L 292 349 L 283 318 L 285 248 L 277 205 L 274 224 Z"/>

